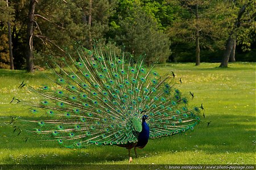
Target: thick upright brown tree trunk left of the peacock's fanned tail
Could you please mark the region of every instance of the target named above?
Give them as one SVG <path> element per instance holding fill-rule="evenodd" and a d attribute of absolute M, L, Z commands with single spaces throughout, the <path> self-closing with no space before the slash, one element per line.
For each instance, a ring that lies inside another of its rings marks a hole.
<path fill-rule="evenodd" d="M 30 6 L 28 8 L 28 20 L 27 20 L 27 45 L 26 45 L 26 64 L 27 71 L 34 72 L 33 61 L 33 31 L 34 31 L 34 14 L 35 14 L 35 0 L 30 0 Z"/>

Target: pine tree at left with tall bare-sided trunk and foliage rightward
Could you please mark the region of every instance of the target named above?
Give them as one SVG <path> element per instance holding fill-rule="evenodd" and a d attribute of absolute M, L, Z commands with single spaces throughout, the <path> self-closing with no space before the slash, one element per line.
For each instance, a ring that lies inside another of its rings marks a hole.
<path fill-rule="evenodd" d="M 49 55 L 54 55 L 56 58 L 63 56 L 65 45 L 69 47 L 72 44 L 71 36 L 75 37 L 74 35 L 80 31 L 71 18 L 71 13 L 76 14 L 79 10 L 74 3 L 57 0 L 38 3 L 31 1 L 31 3 L 28 8 L 26 41 L 28 72 L 34 71 L 32 59 L 35 57 L 39 59 L 36 63 L 40 64 L 40 62 L 45 63 Z"/>

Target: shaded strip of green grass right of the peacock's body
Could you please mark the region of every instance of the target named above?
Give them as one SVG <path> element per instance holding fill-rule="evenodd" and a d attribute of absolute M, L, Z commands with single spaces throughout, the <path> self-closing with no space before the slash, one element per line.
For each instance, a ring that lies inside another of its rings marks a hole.
<path fill-rule="evenodd" d="M 202 150 L 208 154 L 220 154 L 226 151 L 254 153 L 255 117 L 214 115 L 209 116 L 208 119 L 211 120 L 209 127 L 203 119 L 193 132 L 158 139 L 157 150 L 160 152 Z M 154 147 L 155 144 L 150 143 L 150 147 Z"/>

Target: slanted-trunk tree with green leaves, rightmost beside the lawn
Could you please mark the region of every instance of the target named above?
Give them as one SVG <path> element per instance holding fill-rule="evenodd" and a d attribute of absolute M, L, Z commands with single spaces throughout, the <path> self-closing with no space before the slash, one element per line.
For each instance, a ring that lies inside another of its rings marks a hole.
<path fill-rule="evenodd" d="M 235 49 L 234 47 L 236 47 L 236 39 L 238 39 L 238 44 L 247 44 L 248 47 L 250 46 L 249 42 L 251 41 L 251 36 L 249 36 L 250 32 L 254 32 L 255 34 L 255 3 L 253 1 L 243 1 L 237 5 L 240 5 L 241 7 L 237 13 L 237 18 L 233 21 L 233 27 L 230 28 L 231 31 L 229 33 L 229 38 L 226 43 L 226 49 L 222 57 L 220 67 L 228 67 L 232 49 Z"/>

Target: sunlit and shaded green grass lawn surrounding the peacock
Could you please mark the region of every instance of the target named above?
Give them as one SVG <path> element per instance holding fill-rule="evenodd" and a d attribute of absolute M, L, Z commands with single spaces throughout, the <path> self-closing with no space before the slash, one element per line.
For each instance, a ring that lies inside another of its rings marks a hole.
<path fill-rule="evenodd" d="M 174 71 L 179 89 L 193 92 L 192 105 L 205 108 L 205 119 L 195 130 L 150 140 L 138 150 L 133 164 L 255 164 L 255 63 L 166 64 L 156 67 L 164 74 Z M 28 115 L 11 99 L 33 99 L 18 89 L 20 82 L 39 86 L 49 82 L 42 73 L 0 69 L 0 164 L 127 164 L 127 150 L 116 146 L 91 146 L 84 149 L 60 148 L 55 142 L 28 140 L 17 136 L 9 124 L 10 115 Z M 207 127 L 207 122 L 210 122 Z M 134 153 L 134 152 L 133 152 Z"/>

